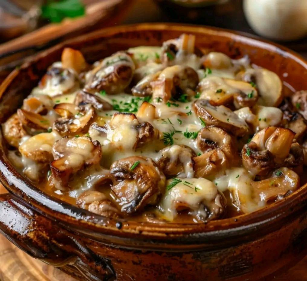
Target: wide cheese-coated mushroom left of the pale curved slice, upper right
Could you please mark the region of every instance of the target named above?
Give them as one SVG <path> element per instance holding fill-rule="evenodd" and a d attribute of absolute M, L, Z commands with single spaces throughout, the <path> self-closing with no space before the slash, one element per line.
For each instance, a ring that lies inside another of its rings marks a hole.
<path fill-rule="evenodd" d="M 258 99 L 258 93 L 251 84 L 217 76 L 209 76 L 197 86 L 200 98 L 209 100 L 211 105 L 233 103 L 235 108 L 252 107 Z"/>

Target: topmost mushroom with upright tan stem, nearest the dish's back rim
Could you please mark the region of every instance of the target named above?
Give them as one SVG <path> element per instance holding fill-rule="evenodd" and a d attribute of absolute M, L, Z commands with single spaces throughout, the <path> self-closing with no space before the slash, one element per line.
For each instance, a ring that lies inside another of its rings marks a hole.
<path fill-rule="evenodd" d="M 161 62 L 164 66 L 173 65 L 177 56 L 194 53 L 195 35 L 181 34 L 179 38 L 163 42 Z"/>

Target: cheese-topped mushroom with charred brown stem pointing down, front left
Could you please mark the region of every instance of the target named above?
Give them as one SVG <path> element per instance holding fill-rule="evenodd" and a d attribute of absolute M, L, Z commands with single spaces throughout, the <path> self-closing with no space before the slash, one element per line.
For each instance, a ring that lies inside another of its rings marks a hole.
<path fill-rule="evenodd" d="M 101 158 L 101 146 L 98 141 L 90 138 L 65 137 L 58 140 L 52 147 L 54 161 L 51 162 L 53 183 L 57 189 L 68 187 L 72 174 L 93 164 Z"/>

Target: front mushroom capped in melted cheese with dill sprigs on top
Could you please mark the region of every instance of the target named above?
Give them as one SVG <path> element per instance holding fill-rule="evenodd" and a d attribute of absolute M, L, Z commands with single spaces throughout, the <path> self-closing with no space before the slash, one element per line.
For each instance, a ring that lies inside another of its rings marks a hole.
<path fill-rule="evenodd" d="M 197 221 L 206 222 L 224 214 L 226 198 L 207 179 L 173 178 L 167 181 L 167 191 L 159 209 L 168 221 L 185 211 Z"/>

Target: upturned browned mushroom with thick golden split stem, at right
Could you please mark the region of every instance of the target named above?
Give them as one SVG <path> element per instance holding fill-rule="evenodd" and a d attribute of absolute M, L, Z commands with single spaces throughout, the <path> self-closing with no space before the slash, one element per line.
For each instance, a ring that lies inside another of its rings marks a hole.
<path fill-rule="evenodd" d="M 298 166 L 303 162 L 303 151 L 293 144 L 295 133 L 282 127 L 267 127 L 244 145 L 243 166 L 254 175 L 266 175 L 282 166 Z"/>

